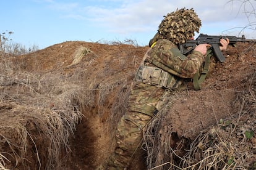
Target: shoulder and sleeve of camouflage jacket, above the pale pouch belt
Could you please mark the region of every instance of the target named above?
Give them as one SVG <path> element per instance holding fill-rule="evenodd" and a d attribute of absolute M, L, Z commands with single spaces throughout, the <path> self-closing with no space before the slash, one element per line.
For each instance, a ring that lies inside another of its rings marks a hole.
<path fill-rule="evenodd" d="M 180 78 L 193 78 L 204 60 L 203 54 L 198 51 L 193 51 L 188 56 L 181 54 L 177 46 L 167 39 L 158 40 L 148 51 L 148 56 L 145 62 Z"/>

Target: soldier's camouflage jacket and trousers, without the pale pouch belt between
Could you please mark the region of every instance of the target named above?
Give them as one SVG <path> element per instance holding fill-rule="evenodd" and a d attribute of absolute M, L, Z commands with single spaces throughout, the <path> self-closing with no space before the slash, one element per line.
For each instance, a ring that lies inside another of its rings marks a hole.
<path fill-rule="evenodd" d="M 166 39 L 158 40 L 147 56 L 146 63 L 152 63 L 181 78 L 192 78 L 203 62 L 200 52 L 192 52 L 186 57 L 175 44 Z M 117 146 L 108 160 L 108 169 L 124 169 L 129 166 L 135 150 L 140 148 L 143 127 L 153 117 L 156 108 L 161 109 L 168 92 L 164 88 L 134 81 L 126 114 L 117 125 Z"/>

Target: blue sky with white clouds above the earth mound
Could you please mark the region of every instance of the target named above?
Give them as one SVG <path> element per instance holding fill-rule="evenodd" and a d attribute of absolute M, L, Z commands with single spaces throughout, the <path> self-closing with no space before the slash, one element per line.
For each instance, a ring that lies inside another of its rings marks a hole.
<path fill-rule="evenodd" d="M 164 15 L 183 7 L 202 20 L 200 33 L 256 39 L 256 0 L 2 0 L 0 34 L 39 49 L 64 41 L 147 46 Z"/>

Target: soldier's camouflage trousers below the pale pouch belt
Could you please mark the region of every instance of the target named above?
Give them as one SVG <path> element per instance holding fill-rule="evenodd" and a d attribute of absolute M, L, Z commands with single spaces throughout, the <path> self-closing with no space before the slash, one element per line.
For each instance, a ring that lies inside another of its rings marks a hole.
<path fill-rule="evenodd" d="M 142 129 L 153 117 L 164 89 L 134 82 L 126 114 L 117 125 L 116 148 L 108 160 L 108 169 L 124 169 L 135 150 L 140 149 Z"/>

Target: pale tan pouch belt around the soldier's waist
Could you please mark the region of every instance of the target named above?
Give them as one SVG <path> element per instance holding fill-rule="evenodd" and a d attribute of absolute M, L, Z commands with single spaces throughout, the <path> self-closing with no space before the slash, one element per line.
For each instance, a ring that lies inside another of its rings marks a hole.
<path fill-rule="evenodd" d="M 178 85 L 177 79 L 167 71 L 158 67 L 150 67 L 140 65 L 135 75 L 134 81 L 141 81 L 143 83 L 151 84 L 157 87 L 173 88 Z"/>

